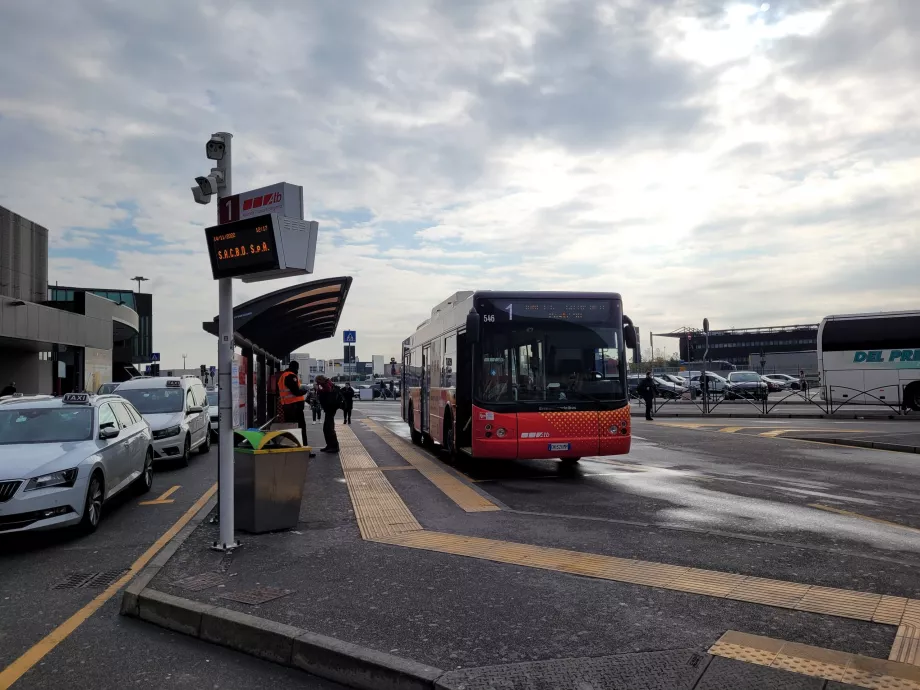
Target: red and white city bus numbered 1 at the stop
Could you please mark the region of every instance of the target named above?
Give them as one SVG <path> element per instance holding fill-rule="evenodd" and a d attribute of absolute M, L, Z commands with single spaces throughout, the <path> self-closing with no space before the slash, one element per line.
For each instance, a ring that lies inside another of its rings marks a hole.
<path fill-rule="evenodd" d="M 403 342 L 403 419 L 451 455 L 627 453 L 635 346 L 616 293 L 458 292 Z"/>

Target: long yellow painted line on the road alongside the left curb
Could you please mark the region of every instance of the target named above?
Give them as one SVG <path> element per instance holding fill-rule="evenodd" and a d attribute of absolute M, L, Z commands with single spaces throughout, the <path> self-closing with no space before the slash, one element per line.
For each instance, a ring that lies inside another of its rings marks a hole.
<path fill-rule="evenodd" d="M 166 530 L 166 532 L 164 532 L 163 535 L 157 539 L 150 548 L 141 554 L 140 558 L 131 564 L 131 568 L 127 573 L 106 587 L 102 594 L 97 596 L 86 606 L 84 606 L 82 609 L 77 611 L 70 618 L 68 618 L 66 621 L 48 633 L 44 639 L 37 642 L 31 649 L 25 652 L 25 654 L 16 659 L 16 661 L 3 669 L 3 671 L 0 671 L 0 690 L 7 690 L 7 688 L 9 688 L 13 683 L 22 678 L 26 671 L 41 661 L 49 652 L 51 652 L 51 650 L 63 642 L 68 635 L 70 635 L 90 616 L 98 611 L 103 604 L 115 596 L 115 594 L 118 593 L 118 590 L 128 584 L 128 582 L 130 582 L 135 575 L 143 570 L 144 566 L 146 566 L 150 560 L 156 556 L 157 553 L 159 553 L 160 549 L 166 546 L 166 544 L 169 543 L 169 540 L 176 536 L 179 533 L 179 530 L 185 527 L 189 521 L 195 517 L 198 511 L 204 507 L 205 503 L 207 503 L 208 500 L 210 500 L 210 498 L 216 492 L 217 484 L 214 484 L 210 489 L 204 492 L 201 498 L 195 501 L 195 504 L 185 512 L 185 515 L 179 518 L 179 520 L 176 521 L 172 527 Z"/>

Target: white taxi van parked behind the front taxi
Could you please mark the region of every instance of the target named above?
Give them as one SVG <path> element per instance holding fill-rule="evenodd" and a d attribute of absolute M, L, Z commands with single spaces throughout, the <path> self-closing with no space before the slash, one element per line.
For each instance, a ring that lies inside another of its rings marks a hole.
<path fill-rule="evenodd" d="M 153 461 L 188 466 L 192 451 L 211 450 L 208 394 L 197 376 L 137 378 L 118 387 L 153 432 Z"/>

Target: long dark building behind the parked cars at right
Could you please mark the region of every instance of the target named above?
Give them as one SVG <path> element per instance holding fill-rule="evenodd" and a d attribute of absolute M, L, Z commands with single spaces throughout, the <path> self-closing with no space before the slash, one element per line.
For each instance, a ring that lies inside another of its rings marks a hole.
<path fill-rule="evenodd" d="M 680 359 L 698 362 L 706 352 L 706 336 L 701 330 L 682 328 L 671 333 L 656 333 L 656 337 L 677 338 Z M 778 360 L 779 353 L 789 367 L 811 369 L 817 366 L 815 352 L 818 347 L 818 324 L 792 326 L 767 326 L 763 328 L 731 328 L 709 332 L 709 359 L 734 364 L 739 369 L 759 363 L 761 353 L 765 359 Z M 793 362 L 793 360 L 796 360 Z M 760 367 L 758 366 L 757 369 Z"/>

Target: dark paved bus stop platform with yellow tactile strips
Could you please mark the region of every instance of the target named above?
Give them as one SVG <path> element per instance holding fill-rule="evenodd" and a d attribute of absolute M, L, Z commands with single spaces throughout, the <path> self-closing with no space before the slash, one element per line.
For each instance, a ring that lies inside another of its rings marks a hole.
<path fill-rule="evenodd" d="M 710 653 L 739 647 L 718 644 L 731 630 L 916 669 L 920 688 L 920 667 L 882 661 L 920 601 L 884 621 L 805 604 L 914 602 L 915 564 L 827 569 L 778 545 L 517 514 L 358 414 L 341 458 L 311 461 L 297 530 L 240 534 L 225 555 L 204 521 L 123 612 L 360 688 L 848 687 Z M 739 583 L 786 598 L 731 595 Z"/>

